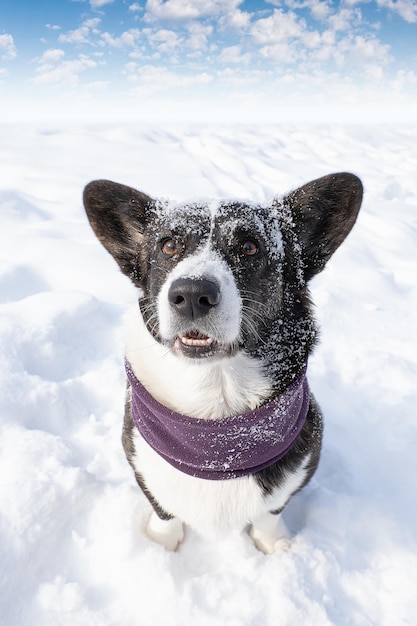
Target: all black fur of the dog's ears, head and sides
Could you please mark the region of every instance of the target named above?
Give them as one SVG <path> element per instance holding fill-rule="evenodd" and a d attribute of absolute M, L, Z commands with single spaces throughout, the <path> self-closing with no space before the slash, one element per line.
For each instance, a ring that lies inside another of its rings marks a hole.
<path fill-rule="evenodd" d="M 360 180 L 342 173 L 312 181 L 270 207 L 256 206 L 254 211 L 250 204 L 223 202 L 216 213 L 212 245 L 232 268 L 243 301 L 241 340 L 235 349 L 262 362 L 274 394 L 299 375 L 316 343 L 308 281 L 324 268 L 351 230 L 361 201 Z M 149 332 L 162 341 L 155 309 L 159 288 L 175 263 L 193 254 L 208 237 L 212 219 L 208 206 L 188 204 L 171 213 L 165 210 L 168 205 L 110 181 L 87 185 L 84 203 L 102 244 L 143 290 L 142 315 Z M 278 232 L 281 252 L 271 243 Z M 162 242 L 170 238 L 178 248 L 173 258 L 162 249 Z M 247 240 L 256 242 L 256 256 L 240 254 Z M 127 401 L 123 446 L 132 467 L 134 428 Z M 311 457 L 304 484 L 308 482 L 319 462 L 322 429 L 321 413 L 311 396 L 304 428 L 292 449 L 256 474 L 265 494 L 282 484 L 307 453 Z M 135 474 L 157 514 L 169 519 L 143 478 Z"/>

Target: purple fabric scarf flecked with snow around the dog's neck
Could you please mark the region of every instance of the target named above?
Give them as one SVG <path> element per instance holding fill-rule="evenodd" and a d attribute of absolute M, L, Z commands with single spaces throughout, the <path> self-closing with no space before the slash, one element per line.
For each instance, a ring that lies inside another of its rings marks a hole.
<path fill-rule="evenodd" d="M 306 368 L 268 404 L 218 420 L 196 419 L 160 404 L 126 361 L 132 417 L 145 441 L 178 470 L 209 480 L 254 474 L 279 461 L 304 426 L 309 407 Z"/>

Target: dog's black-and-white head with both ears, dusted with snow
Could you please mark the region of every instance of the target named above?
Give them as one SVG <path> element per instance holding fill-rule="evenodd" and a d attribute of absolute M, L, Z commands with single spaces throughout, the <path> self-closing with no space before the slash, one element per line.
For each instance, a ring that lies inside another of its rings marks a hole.
<path fill-rule="evenodd" d="M 94 232 L 143 291 L 157 341 L 197 360 L 244 350 L 268 362 L 273 350 L 275 363 L 305 361 L 315 336 L 307 283 L 351 230 L 361 200 L 360 180 L 346 173 L 269 205 L 173 204 L 105 180 L 84 191 Z"/>

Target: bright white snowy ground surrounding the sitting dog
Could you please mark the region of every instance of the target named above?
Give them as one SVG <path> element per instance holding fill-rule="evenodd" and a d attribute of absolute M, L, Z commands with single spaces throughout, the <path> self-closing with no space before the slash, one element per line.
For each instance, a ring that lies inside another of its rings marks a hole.
<path fill-rule="evenodd" d="M 3 126 L 0 163 L 1 625 L 417 624 L 417 127 Z M 168 553 L 120 444 L 136 294 L 82 189 L 265 200 L 340 170 L 365 198 L 312 284 L 326 431 L 293 546 Z"/>

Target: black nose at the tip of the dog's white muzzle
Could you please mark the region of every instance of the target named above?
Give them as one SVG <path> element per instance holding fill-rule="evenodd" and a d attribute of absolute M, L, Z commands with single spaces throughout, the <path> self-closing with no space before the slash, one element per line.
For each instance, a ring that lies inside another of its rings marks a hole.
<path fill-rule="evenodd" d="M 178 278 L 169 288 L 168 301 L 180 315 L 194 320 L 219 304 L 220 290 L 206 278 Z"/>

